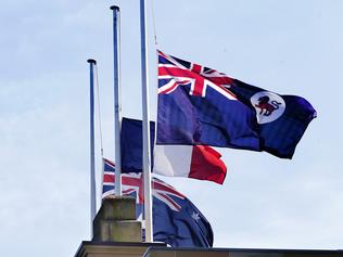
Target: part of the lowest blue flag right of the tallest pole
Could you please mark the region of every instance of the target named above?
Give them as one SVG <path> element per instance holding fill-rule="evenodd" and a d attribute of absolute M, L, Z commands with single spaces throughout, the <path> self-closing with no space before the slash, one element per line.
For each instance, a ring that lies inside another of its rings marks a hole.
<path fill-rule="evenodd" d="M 153 197 L 154 241 L 174 247 L 212 247 L 211 224 L 195 205 L 169 184 L 156 178 L 153 183 L 162 196 Z"/>

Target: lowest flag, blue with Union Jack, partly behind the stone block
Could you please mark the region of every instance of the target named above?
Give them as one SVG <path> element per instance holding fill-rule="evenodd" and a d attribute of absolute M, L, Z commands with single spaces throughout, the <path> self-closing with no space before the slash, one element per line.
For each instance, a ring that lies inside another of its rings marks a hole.
<path fill-rule="evenodd" d="M 114 164 L 104 159 L 102 197 L 114 194 Z M 143 179 L 142 174 L 123 174 L 124 195 L 137 200 L 137 217 L 142 215 Z M 153 239 L 174 247 L 212 247 L 213 230 L 203 214 L 183 194 L 172 185 L 152 178 L 153 195 Z"/>

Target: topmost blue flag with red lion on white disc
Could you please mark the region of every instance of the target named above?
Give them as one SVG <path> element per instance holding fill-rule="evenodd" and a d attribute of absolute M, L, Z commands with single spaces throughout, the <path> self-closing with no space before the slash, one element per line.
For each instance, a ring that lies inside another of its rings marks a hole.
<path fill-rule="evenodd" d="M 303 98 L 280 95 L 161 51 L 157 144 L 208 144 L 292 158 L 316 117 Z"/>

